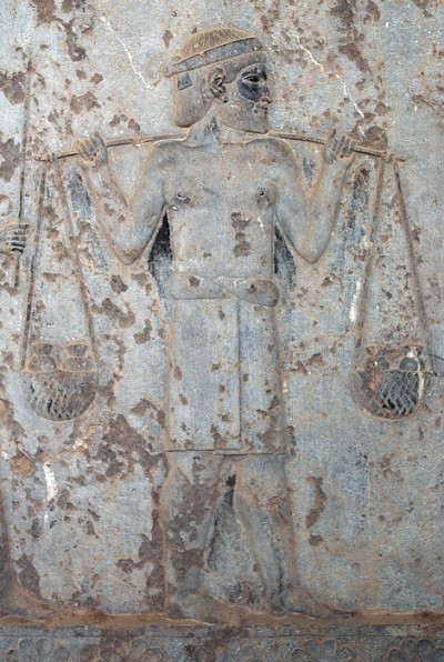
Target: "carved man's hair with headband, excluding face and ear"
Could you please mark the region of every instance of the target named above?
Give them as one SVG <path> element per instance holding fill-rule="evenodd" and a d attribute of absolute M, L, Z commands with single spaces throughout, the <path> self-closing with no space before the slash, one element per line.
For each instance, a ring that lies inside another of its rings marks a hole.
<path fill-rule="evenodd" d="M 241 69 L 264 62 L 261 41 L 235 28 L 213 28 L 193 34 L 164 66 L 171 78 L 172 116 L 179 127 L 191 127 L 209 111 L 214 97 L 208 91 L 213 66 L 223 68 L 225 82 L 232 82 Z"/>

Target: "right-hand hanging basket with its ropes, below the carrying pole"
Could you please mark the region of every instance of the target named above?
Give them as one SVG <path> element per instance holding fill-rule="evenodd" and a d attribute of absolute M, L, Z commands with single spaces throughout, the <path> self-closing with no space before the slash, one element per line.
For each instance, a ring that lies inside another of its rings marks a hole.
<path fill-rule="evenodd" d="M 380 162 L 370 244 L 354 387 L 367 411 L 396 420 L 420 407 L 433 371 L 400 172 L 391 159 Z"/>

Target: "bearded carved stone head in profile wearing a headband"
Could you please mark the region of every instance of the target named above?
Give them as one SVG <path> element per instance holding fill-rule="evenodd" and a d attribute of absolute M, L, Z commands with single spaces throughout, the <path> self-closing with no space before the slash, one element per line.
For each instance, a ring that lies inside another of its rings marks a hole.
<path fill-rule="evenodd" d="M 198 32 L 165 66 L 172 117 L 191 127 L 216 106 L 221 121 L 244 131 L 268 131 L 266 54 L 259 39 L 234 28 Z"/>

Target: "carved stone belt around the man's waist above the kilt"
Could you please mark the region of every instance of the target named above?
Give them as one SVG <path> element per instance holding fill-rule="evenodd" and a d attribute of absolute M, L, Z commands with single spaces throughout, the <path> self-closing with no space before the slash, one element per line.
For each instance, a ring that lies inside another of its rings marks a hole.
<path fill-rule="evenodd" d="M 258 305 L 276 305 L 279 301 L 278 285 L 268 279 L 225 278 L 214 279 L 173 273 L 170 281 L 173 299 L 231 299 L 233 297 L 256 303 Z"/>

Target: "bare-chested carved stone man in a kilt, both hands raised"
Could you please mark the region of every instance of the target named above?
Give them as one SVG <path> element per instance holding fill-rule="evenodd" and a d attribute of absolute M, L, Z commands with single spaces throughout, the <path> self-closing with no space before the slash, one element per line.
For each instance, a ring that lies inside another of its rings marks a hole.
<path fill-rule="evenodd" d="M 218 501 L 231 490 L 269 611 L 320 613 L 295 576 L 273 240 L 279 223 L 303 259 L 322 255 L 352 143 L 331 136 L 305 199 L 293 153 L 266 136 L 271 99 L 258 39 L 234 29 L 198 33 L 167 73 L 173 120 L 189 132 L 152 147 L 129 199 L 107 167 L 101 139 L 80 143 L 122 262 L 139 258 L 164 213 L 171 228 L 169 473 L 161 505 L 167 611 L 229 618 L 201 578 Z"/>

